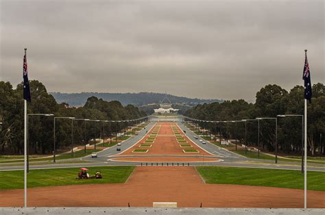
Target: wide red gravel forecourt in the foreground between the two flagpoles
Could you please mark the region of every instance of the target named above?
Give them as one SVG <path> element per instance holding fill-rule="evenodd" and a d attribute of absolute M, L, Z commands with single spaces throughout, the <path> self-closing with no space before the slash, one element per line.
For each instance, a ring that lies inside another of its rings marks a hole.
<path fill-rule="evenodd" d="M 23 190 L 0 191 L 1 207 L 23 206 Z M 308 207 L 325 207 L 325 192 L 308 191 Z M 28 189 L 29 207 L 303 207 L 303 190 L 204 184 L 193 167 L 136 167 L 125 184 Z"/>

